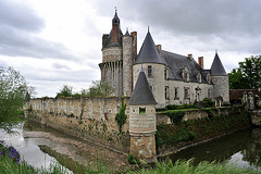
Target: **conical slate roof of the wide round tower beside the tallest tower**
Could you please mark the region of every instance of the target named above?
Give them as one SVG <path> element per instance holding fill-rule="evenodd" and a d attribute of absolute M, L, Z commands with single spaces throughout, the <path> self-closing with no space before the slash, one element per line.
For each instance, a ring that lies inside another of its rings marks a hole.
<path fill-rule="evenodd" d="M 149 30 L 146 35 L 146 38 L 141 46 L 141 49 L 137 55 L 135 64 L 138 64 L 138 63 L 164 64 L 164 62 L 160 59 L 160 53 L 158 52 L 158 50 L 156 48 L 154 41 L 153 41 Z"/>

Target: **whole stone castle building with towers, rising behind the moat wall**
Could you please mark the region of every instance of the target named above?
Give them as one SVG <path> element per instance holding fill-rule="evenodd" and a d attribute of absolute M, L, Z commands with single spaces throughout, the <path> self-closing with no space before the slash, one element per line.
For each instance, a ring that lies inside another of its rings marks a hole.
<path fill-rule="evenodd" d="M 123 35 L 117 12 L 110 34 L 102 37 L 101 80 L 109 83 L 113 96 L 132 96 L 139 72 L 144 69 L 157 107 L 194 103 L 211 98 L 217 104 L 229 102 L 228 76 L 217 52 L 210 70 L 203 57 L 181 55 L 156 46 L 148 30 L 137 54 L 137 33 Z"/>

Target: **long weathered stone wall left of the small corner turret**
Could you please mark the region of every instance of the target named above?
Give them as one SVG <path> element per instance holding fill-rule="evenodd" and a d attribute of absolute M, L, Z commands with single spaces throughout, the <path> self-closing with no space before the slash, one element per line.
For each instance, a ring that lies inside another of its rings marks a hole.
<path fill-rule="evenodd" d="M 29 119 L 64 133 L 99 142 L 127 153 L 129 149 L 127 121 L 119 133 L 115 114 L 121 108 L 120 98 L 45 98 L 28 103 Z M 128 103 L 128 98 L 124 99 Z"/>

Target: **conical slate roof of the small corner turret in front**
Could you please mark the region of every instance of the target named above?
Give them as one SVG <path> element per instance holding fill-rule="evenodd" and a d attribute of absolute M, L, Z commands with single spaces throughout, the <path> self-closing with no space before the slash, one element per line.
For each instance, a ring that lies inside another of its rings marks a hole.
<path fill-rule="evenodd" d="M 157 104 L 154 96 L 150 90 L 149 83 L 145 75 L 144 70 L 141 69 L 137 83 L 135 85 L 134 91 L 129 99 L 129 105 L 150 105 Z"/>

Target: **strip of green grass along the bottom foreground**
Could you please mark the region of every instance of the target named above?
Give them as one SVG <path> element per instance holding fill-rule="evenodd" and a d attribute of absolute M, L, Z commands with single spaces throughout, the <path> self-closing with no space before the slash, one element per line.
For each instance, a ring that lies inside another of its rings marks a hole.
<path fill-rule="evenodd" d="M 1 144 L 0 144 L 1 145 Z M 4 148 L 1 146 L 1 150 Z M 5 147 L 5 149 L 8 149 Z M 76 164 L 77 165 L 77 164 Z M 26 162 L 17 162 L 12 157 L 7 156 L 5 152 L 1 151 L 0 156 L 0 173 L 1 174 L 66 174 L 69 171 L 59 163 L 52 163 L 49 170 L 35 169 L 28 165 Z M 113 171 L 110 166 L 103 166 L 101 164 L 88 166 L 78 166 L 74 173 L 120 173 Z M 192 160 L 188 161 L 176 161 L 173 163 L 171 160 L 166 162 L 159 162 L 154 167 L 140 167 L 136 171 L 125 171 L 128 174 L 209 174 L 209 173 L 229 173 L 229 174 L 261 174 L 260 171 L 256 171 L 251 167 L 240 169 L 232 164 L 222 164 L 214 162 L 201 162 L 198 165 L 192 165 Z"/>

